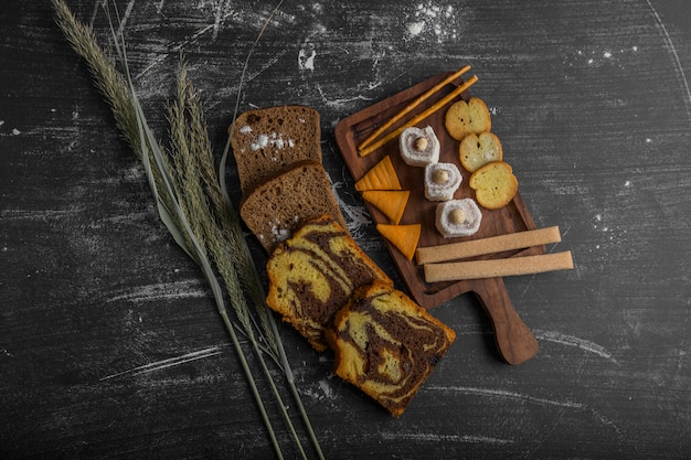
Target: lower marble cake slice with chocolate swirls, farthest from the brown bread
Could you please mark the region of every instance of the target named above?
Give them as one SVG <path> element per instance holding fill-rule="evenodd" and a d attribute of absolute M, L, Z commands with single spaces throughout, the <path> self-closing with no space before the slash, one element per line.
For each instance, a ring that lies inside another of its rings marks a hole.
<path fill-rule="evenodd" d="M 336 374 L 401 416 L 456 338 L 390 285 L 358 289 L 327 333 Z"/>

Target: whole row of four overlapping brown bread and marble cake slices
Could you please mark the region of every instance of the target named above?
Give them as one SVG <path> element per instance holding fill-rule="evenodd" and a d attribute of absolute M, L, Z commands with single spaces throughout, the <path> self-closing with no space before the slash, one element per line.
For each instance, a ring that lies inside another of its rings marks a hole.
<path fill-rule="evenodd" d="M 334 373 L 401 416 L 455 332 L 404 292 L 351 237 L 323 169 L 319 114 L 249 110 L 231 127 L 240 213 L 268 254 L 267 304 Z"/>

